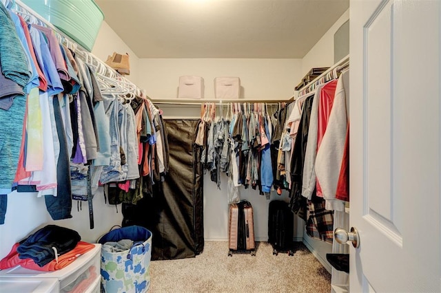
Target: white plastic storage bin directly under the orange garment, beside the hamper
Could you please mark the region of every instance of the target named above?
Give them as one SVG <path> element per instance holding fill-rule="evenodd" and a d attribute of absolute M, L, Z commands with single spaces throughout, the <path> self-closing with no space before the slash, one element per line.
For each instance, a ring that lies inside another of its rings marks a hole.
<path fill-rule="evenodd" d="M 53 272 L 40 272 L 37 270 L 29 270 L 16 266 L 14 268 L 0 270 L 0 278 L 23 278 L 23 279 L 57 279 L 59 281 L 59 292 L 69 292 L 74 290 L 81 284 L 83 279 L 90 276 L 90 272 L 94 272 L 93 281 L 88 282 L 88 287 L 84 288 L 84 292 L 95 292 L 96 281 L 101 280 L 101 244 L 94 244 L 94 248 L 85 254 L 79 256 L 70 265 Z"/>

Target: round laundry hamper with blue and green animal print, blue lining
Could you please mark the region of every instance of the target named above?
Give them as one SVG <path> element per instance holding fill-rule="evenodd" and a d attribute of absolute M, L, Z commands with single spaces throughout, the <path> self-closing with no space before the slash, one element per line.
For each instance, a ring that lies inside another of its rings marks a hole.
<path fill-rule="evenodd" d="M 109 242 L 130 239 L 130 248 L 114 252 Z M 101 284 L 104 292 L 147 292 L 150 287 L 152 232 L 141 226 L 110 230 L 99 240 Z M 105 244 L 109 243 L 109 244 Z"/>

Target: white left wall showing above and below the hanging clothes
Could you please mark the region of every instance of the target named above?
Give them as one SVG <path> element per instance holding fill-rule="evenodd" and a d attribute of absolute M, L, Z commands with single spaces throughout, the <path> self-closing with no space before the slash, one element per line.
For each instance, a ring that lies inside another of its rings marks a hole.
<path fill-rule="evenodd" d="M 107 54 L 112 52 L 128 52 L 136 65 L 137 57 L 118 35 L 103 23 L 96 39 L 92 53 L 105 60 Z M 133 65 L 132 65 L 133 66 Z M 136 66 L 129 79 L 136 80 Z M 48 224 L 64 226 L 79 232 L 83 241 L 95 242 L 96 239 L 107 232 L 115 224 L 121 224 L 123 216 L 121 205 L 116 207 L 104 204 L 102 188 L 96 192 L 93 199 L 95 228 L 89 228 L 89 215 L 87 202 L 82 203 L 82 210 L 77 211 L 76 201 L 72 202 L 72 219 L 52 221 L 48 214 L 44 198 L 37 198 L 34 193 L 10 193 L 8 195 L 8 208 L 6 210 L 5 224 L 0 225 L 0 258 L 8 254 L 14 243 L 28 236 L 30 232 Z"/>

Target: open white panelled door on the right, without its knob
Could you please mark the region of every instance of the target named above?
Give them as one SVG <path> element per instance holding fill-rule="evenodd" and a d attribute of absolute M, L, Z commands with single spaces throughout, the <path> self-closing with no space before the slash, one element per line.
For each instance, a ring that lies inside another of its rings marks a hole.
<path fill-rule="evenodd" d="M 440 0 L 350 2 L 351 292 L 440 292 Z"/>

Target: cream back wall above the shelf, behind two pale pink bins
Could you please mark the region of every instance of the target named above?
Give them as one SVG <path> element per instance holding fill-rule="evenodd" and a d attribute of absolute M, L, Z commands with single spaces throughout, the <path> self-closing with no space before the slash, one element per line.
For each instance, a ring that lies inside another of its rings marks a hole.
<path fill-rule="evenodd" d="M 288 100 L 301 78 L 300 59 L 144 58 L 139 63 L 138 84 L 152 99 L 178 96 L 179 76 L 202 76 L 205 98 L 214 99 L 214 78 L 238 76 L 242 98 Z"/>

